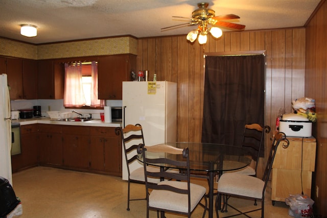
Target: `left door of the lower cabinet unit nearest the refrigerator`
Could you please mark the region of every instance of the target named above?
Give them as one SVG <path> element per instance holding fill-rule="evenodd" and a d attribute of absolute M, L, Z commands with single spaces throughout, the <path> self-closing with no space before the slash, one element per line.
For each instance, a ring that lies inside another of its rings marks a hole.
<path fill-rule="evenodd" d="M 105 138 L 90 136 L 90 168 L 104 171 L 104 144 Z"/>

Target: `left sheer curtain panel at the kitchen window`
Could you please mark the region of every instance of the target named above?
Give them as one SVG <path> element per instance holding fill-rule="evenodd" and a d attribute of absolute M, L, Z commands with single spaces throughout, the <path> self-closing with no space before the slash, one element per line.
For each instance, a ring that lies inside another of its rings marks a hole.
<path fill-rule="evenodd" d="M 63 105 L 65 107 L 82 107 L 86 104 L 82 86 L 82 63 L 75 65 L 65 63 L 65 89 Z"/>

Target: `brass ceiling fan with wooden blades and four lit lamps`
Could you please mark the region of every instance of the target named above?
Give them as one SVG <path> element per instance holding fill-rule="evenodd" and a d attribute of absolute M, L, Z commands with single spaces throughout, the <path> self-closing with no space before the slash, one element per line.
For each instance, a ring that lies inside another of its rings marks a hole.
<path fill-rule="evenodd" d="M 215 11 L 208 8 L 208 3 L 199 3 L 198 9 L 193 11 L 192 18 L 188 17 L 180 17 L 180 16 L 173 16 L 176 18 L 184 18 L 190 19 L 190 22 L 182 23 L 180 25 L 174 25 L 166 28 L 161 28 L 161 30 L 167 30 L 171 28 L 176 28 L 180 26 L 193 26 L 198 25 L 196 30 L 191 31 L 186 39 L 191 42 L 194 42 L 195 39 L 199 35 L 199 43 L 204 44 L 207 40 L 207 33 L 211 33 L 215 38 L 219 38 L 222 36 L 222 31 L 218 27 L 229 28 L 229 29 L 236 29 L 236 30 L 244 30 L 245 25 L 240 25 L 238 23 L 231 23 L 224 20 L 230 19 L 239 19 L 240 17 L 235 14 L 226 14 L 226 15 L 219 15 L 215 16 Z M 218 26 L 218 27 L 208 27 L 208 25 Z"/>

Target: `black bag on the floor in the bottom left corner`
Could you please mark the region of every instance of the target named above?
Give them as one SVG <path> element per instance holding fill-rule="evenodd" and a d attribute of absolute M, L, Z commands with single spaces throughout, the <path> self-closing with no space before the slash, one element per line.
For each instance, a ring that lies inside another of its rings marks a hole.
<path fill-rule="evenodd" d="M 8 180 L 0 177 L 0 217 L 8 215 L 19 203 Z"/>

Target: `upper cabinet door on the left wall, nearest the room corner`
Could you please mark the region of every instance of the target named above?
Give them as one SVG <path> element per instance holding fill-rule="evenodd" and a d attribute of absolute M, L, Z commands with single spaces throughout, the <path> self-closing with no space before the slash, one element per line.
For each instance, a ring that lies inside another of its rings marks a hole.
<path fill-rule="evenodd" d="M 24 99 L 37 99 L 36 61 L 22 61 L 22 82 Z"/>

